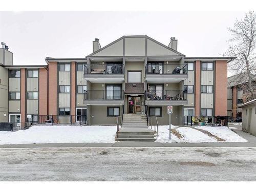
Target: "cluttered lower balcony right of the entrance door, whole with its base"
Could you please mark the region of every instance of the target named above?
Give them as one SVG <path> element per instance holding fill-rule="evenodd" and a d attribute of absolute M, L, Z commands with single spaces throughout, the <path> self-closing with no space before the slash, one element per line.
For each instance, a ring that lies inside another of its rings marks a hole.
<path fill-rule="evenodd" d="M 184 90 L 148 90 L 145 91 L 146 105 L 184 105 L 187 93 Z"/>

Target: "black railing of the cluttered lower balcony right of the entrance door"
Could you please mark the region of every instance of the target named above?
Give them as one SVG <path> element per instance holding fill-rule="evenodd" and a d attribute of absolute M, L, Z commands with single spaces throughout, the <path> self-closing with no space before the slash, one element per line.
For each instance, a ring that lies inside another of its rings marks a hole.
<path fill-rule="evenodd" d="M 187 100 L 184 90 L 148 90 L 145 91 L 147 100 Z"/>

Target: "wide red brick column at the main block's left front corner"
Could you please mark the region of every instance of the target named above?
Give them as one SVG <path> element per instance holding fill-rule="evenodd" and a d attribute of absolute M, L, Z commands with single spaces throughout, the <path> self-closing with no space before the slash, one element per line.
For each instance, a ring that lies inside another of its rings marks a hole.
<path fill-rule="evenodd" d="M 48 115 L 57 115 L 57 62 L 49 62 L 49 96 L 48 96 Z"/>

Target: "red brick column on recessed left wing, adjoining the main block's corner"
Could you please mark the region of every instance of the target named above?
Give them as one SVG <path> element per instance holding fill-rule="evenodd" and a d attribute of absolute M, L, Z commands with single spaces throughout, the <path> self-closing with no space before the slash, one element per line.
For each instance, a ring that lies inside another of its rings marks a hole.
<path fill-rule="evenodd" d="M 39 115 L 48 115 L 48 83 L 47 83 L 47 70 L 45 68 L 39 69 Z"/>

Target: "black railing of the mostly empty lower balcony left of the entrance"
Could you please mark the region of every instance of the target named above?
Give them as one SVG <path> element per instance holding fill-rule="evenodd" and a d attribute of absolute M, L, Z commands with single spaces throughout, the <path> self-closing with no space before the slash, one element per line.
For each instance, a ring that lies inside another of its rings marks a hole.
<path fill-rule="evenodd" d="M 87 90 L 84 91 L 85 100 L 123 100 L 123 90 Z"/>

